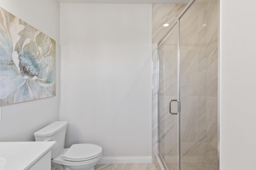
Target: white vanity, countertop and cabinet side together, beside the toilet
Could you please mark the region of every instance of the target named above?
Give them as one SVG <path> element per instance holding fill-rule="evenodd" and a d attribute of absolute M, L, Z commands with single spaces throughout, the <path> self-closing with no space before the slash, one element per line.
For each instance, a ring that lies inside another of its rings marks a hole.
<path fill-rule="evenodd" d="M 0 142 L 0 170 L 51 170 L 51 142 Z"/>

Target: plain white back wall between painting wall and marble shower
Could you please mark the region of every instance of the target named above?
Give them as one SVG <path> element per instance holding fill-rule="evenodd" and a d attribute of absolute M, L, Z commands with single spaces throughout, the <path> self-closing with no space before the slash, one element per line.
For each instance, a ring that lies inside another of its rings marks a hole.
<path fill-rule="evenodd" d="M 151 156 L 151 5 L 60 4 L 66 147 Z"/>

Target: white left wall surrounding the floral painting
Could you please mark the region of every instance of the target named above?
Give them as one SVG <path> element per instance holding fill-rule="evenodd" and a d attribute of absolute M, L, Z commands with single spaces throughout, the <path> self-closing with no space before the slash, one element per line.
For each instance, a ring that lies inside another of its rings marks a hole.
<path fill-rule="evenodd" d="M 33 141 L 36 130 L 59 120 L 60 4 L 58 0 L 0 0 L 0 7 L 56 40 L 56 97 L 1 106 L 0 141 Z"/>

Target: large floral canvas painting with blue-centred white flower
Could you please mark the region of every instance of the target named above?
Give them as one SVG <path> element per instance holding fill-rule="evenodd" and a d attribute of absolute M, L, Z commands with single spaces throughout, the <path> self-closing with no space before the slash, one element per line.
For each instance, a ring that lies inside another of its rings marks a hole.
<path fill-rule="evenodd" d="M 0 105 L 55 91 L 55 41 L 0 8 Z"/>

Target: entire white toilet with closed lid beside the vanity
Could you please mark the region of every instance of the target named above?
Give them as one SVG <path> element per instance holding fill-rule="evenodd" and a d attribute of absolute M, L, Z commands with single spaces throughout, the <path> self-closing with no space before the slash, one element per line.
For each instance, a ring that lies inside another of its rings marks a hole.
<path fill-rule="evenodd" d="M 67 121 L 57 121 L 34 133 L 36 141 L 56 141 L 51 149 L 52 170 L 94 170 L 102 148 L 96 144 L 73 144 L 64 149 L 67 125 Z"/>

